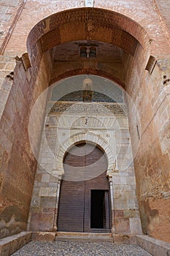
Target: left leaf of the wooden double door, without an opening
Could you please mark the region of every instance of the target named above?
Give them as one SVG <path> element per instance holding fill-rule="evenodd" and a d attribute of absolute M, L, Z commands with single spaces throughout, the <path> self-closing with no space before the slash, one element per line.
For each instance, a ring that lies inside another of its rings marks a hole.
<path fill-rule="evenodd" d="M 64 159 L 64 177 L 58 208 L 58 230 L 83 232 L 85 146 L 74 146 Z"/>

